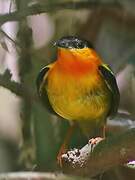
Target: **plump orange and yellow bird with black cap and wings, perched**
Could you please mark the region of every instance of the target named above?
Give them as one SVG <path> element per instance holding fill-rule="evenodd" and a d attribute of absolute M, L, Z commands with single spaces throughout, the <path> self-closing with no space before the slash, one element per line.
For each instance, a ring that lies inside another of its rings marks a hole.
<path fill-rule="evenodd" d="M 57 156 L 60 162 L 74 127 L 87 138 L 92 133 L 105 137 L 107 118 L 117 114 L 120 93 L 112 69 L 89 41 L 64 36 L 54 46 L 56 61 L 40 70 L 36 84 L 47 110 L 71 125 Z"/>

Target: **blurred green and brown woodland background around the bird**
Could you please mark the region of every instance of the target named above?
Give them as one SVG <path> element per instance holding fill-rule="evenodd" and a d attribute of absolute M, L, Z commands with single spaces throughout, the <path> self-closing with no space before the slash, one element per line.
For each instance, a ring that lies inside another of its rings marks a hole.
<path fill-rule="evenodd" d="M 56 59 L 53 42 L 62 36 L 91 41 L 117 76 L 120 109 L 108 121 L 108 134 L 134 126 L 134 9 L 132 0 L 0 0 L 0 172 L 59 170 L 56 156 L 69 124 L 46 111 L 35 81 L 40 69 Z M 76 130 L 70 148 L 85 143 Z M 134 178 L 127 167 L 102 177 Z"/>

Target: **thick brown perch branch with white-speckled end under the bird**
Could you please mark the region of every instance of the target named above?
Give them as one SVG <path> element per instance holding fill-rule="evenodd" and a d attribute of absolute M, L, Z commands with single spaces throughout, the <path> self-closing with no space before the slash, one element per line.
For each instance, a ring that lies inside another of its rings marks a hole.
<path fill-rule="evenodd" d="M 135 159 L 135 128 L 62 155 L 64 172 L 93 177 Z"/>

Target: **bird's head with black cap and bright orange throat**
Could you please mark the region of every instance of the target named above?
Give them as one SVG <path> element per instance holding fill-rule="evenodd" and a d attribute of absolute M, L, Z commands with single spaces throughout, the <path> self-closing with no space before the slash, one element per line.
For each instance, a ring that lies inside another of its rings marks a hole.
<path fill-rule="evenodd" d="M 101 59 L 87 40 L 66 36 L 57 40 L 54 45 L 58 47 L 58 64 L 65 72 L 83 74 L 101 64 Z"/>

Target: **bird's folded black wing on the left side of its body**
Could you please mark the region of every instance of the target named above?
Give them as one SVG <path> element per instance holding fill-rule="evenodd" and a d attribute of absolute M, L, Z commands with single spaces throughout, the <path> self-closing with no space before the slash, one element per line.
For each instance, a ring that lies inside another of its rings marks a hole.
<path fill-rule="evenodd" d="M 43 105 L 46 107 L 46 109 L 50 113 L 56 114 L 49 102 L 47 91 L 46 91 L 47 75 L 48 75 L 48 71 L 50 68 L 51 68 L 51 66 L 45 66 L 44 68 L 41 69 L 41 71 L 39 72 L 37 79 L 36 79 L 36 85 L 37 85 L 38 95 L 39 95 Z"/>

